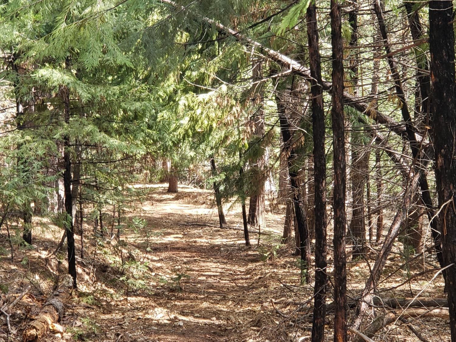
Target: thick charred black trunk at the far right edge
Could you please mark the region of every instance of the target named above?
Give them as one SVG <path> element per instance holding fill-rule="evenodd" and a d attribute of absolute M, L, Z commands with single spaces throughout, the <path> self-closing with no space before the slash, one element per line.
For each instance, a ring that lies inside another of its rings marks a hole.
<path fill-rule="evenodd" d="M 432 129 L 435 145 L 435 181 L 440 213 L 437 228 L 441 233 L 443 265 L 453 264 L 444 273 L 450 311 L 451 341 L 456 341 L 456 87 L 453 3 L 429 1 L 429 44 L 432 80 Z"/>

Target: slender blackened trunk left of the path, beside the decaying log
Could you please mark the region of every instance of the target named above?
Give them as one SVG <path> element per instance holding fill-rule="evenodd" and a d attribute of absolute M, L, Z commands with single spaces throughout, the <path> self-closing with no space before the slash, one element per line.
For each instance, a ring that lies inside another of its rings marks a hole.
<path fill-rule="evenodd" d="M 63 100 L 63 119 L 65 124 L 70 123 L 70 93 L 66 86 L 60 87 L 60 93 Z M 67 219 L 65 220 L 65 230 L 67 233 L 67 250 L 68 250 L 68 273 L 73 277 L 73 288 L 76 288 L 76 254 L 74 247 L 74 232 L 73 232 L 73 197 L 71 192 L 71 151 L 70 137 L 64 137 L 63 151 L 63 184 L 65 188 L 65 212 Z"/>

